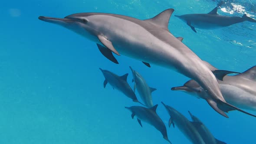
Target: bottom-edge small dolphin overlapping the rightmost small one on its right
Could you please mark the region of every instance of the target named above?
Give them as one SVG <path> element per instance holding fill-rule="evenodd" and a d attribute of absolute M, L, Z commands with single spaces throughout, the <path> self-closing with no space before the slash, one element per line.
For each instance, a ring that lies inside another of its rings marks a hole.
<path fill-rule="evenodd" d="M 182 115 L 179 111 L 175 110 L 174 108 L 165 105 L 161 102 L 166 110 L 168 111 L 171 118 L 169 119 L 169 127 L 171 124 L 177 125 L 180 131 L 193 143 L 193 144 L 208 144 L 203 141 L 202 136 L 197 131 L 194 125 L 201 125 L 199 122 L 192 122 L 189 121 L 184 115 Z"/>

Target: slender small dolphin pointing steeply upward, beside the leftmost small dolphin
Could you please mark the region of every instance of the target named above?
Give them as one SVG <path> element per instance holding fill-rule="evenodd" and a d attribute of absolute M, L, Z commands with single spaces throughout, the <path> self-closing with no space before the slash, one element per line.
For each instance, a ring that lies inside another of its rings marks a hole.
<path fill-rule="evenodd" d="M 142 101 L 144 102 L 144 104 L 148 107 L 151 108 L 153 107 L 153 102 L 152 102 L 152 96 L 151 96 L 151 92 L 157 90 L 156 88 L 150 88 L 148 86 L 148 84 L 146 83 L 145 79 L 143 79 L 143 77 L 136 72 L 135 70 L 133 70 L 130 66 L 132 75 L 133 75 L 133 79 L 132 82 L 135 82 L 134 84 L 134 89 L 133 91 L 135 92 L 135 88 L 137 88 L 137 91 L 139 92 Z"/>

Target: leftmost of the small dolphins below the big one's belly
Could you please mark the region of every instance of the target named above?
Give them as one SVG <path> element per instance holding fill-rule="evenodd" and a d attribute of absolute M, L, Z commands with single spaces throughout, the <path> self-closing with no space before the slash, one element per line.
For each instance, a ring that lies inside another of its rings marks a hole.
<path fill-rule="evenodd" d="M 128 73 L 122 76 L 118 76 L 108 70 L 103 70 L 101 68 L 99 69 L 102 71 L 105 77 L 105 81 L 103 84 L 104 88 L 106 87 L 107 83 L 109 83 L 113 88 L 119 90 L 120 92 L 125 94 L 128 98 L 131 98 L 132 101 L 139 102 L 135 93 L 132 91 L 130 85 L 127 83 Z"/>

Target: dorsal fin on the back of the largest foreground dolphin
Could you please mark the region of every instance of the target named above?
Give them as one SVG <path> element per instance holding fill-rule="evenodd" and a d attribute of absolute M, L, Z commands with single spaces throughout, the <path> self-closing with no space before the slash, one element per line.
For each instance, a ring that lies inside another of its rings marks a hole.
<path fill-rule="evenodd" d="M 145 20 L 148 21 L 149 23 L 153 23 L 155 25 L 161 26 L 164 29 L 168 29 L 168 23 L 171 17 L 171 14 L 174 12 L 174 9 L 167 9 L 164 10 L 163 12 L 159 13 L 157 16 Z"/>

